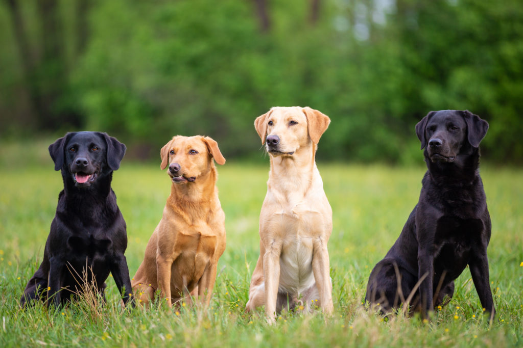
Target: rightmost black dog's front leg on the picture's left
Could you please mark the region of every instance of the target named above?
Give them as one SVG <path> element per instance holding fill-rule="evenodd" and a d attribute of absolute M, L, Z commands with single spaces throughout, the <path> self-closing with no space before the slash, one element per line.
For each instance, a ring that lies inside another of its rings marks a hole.
<path fill-rule="evenodd" d="M 418 249 L 418 282 L 422 318 L 430 320 L 429 313 L 434 309 L 434 255 L 424 249 Z"/>

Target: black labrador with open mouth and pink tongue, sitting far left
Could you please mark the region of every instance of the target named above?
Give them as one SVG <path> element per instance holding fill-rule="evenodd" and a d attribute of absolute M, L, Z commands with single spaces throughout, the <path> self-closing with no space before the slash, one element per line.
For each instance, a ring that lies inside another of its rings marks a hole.
<path fill-rule="evenodd" d="M 126 257 L 126 222 L 111 189 L 126 146 L 106 133 L 67 133 L 49 146 L 64 189 L 51 223 L 43 260 L 20 299 L 65 304 L 72 294 L 97 291 L 105 302 L 105 281 L 112 273 L 123 303 L 132 296 Z M 134 302 L 132 302 L 134 303 Z"/>

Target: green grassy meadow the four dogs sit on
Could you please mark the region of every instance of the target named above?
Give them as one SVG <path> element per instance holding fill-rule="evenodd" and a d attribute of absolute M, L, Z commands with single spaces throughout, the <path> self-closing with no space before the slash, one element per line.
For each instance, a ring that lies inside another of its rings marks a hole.
<path fill-rule="evenodd" d="M 47 161 L 47 162 L 46 162 Z M 275 326 L 244 306 L 258 257 L 258 214 L 269 166 L 218 168 L 227 247 L 219 262 L 212 306 L 122 310 L 108 279 L 108 304 L 21 310 L 18 299 L 37 268 L 62 179 L 51 160 L 39 167 L 0 167 L 0 346 L 522 346 L 523 170 L 484 166 L 493 221 L 488 247 L 498 316 L 492 325 L 465 269 L 450 304 L 430 324 L 361 306 L 372 267 L 393 244 L 417 202 L 424 167 L 319 164 L 334 215 L 329 241 L 335 312 L 324 318 L 286 314 Z M 131 277 L 161 218 L 169 180 L 160 165 L 122 163 L 113 189 L 128 225 Z M 475 317 L 474 317 L 475 316 Z"/>

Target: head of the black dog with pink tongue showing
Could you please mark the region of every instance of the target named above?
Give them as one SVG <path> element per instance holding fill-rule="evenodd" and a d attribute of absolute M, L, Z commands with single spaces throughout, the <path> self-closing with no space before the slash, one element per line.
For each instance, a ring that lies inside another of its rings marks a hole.
<path fill-rule="evenodd" d="M 98 131 L 67 133 L 49 146 L 54 170 L 71 176 L 76 187 L 89 187 L 116 171 L 125 153 L 125 145 Z"/>

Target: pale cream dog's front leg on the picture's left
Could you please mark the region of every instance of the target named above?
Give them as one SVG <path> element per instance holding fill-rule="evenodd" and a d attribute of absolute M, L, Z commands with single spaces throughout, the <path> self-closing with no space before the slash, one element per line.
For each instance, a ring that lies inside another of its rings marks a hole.
<path fill-rule="evenodd" d="M 265 249 L 263 274 L 265 279 L 265 314 L 269 323 L 276 321 L 276 301 L 280 283 L 281 245 L 274 240 Z"/>

